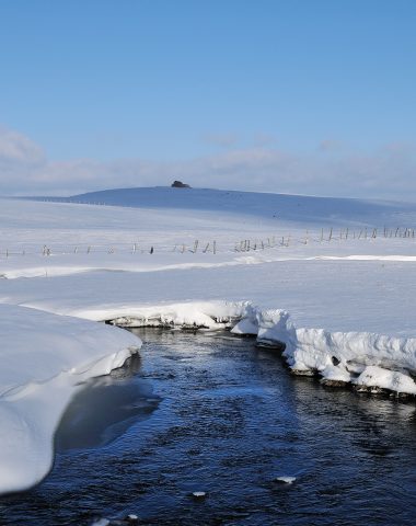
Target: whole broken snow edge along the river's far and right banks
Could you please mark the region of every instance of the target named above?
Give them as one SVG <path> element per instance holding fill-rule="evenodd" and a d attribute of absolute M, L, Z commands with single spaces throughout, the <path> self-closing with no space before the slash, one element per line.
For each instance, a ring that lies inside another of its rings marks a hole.
<path fill-rule="evenodd" d="M 296 328 L 286 310 L 262 309 L 250 301 L 188 302 L 139 310 L 112 322 L 122 327 L 230 327 L 233 334 L 254 335 L 261 344 L 284 344 L 284 356 L 297 375 L 317 374 L 330 386 L 353 384 L 357 390 L 416 395 L 414 338 Z"/>

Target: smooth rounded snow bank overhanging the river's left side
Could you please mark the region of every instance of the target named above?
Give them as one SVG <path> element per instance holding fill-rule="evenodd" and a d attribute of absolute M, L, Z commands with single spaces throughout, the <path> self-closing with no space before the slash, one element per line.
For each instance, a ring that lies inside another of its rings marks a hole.
<path fill-rule="evenodd" d="M 120 367 L 140 340 L 120 329 L 0 306 L 0 493 L 49 471 L 53 438 L 76 390 Z"/>

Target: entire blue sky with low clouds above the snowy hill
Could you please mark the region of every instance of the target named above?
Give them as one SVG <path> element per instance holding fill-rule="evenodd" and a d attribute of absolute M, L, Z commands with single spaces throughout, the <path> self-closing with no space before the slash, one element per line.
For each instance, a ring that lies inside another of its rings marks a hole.
<path fill-rule="evenodd" d="M 0 0 L 1 193 L 415 198 L 414 0 Z"/>

